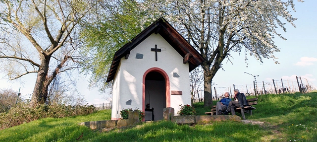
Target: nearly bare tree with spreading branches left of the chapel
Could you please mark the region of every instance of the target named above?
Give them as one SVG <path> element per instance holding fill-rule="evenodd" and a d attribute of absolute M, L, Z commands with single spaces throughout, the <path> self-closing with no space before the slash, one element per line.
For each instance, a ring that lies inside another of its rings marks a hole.
<path fill-rule="evenodd" d="M 60 72 L 81 66 L 78 26 L 94 0 L 0 0 L 1 70 L 9 79 L 36 73 L 31 106 L 43 104 Z"/>

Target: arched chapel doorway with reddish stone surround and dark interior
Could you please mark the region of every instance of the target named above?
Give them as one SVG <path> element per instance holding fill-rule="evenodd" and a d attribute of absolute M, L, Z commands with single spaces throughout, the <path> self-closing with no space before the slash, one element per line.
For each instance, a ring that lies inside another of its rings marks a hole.
<path fill-rule="evenodd" d="M 143 75 L 143 108 L 154 108 L 154 120 L 163 119 L 163 108 L 170 107 L 169 77 L 159 68 L 151 68 Z M 146 119 L 152 120 L 152 112 L 145 112 Z"/>

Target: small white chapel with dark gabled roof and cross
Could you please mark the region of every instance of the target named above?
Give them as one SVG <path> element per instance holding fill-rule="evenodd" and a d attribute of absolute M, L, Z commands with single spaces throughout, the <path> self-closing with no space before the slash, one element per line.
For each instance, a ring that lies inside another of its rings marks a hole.
<path fill-rule="evenodd" d="M 145 120 L 163 119 L 166 107 L 177 115 L 179 105 L 191 104 L 189 72 L 204 60 L 159 18 L 115 52 L 106 80 L 113 80 L 111 120 L 119 120 L 127 108 L 145 111 Z"/>

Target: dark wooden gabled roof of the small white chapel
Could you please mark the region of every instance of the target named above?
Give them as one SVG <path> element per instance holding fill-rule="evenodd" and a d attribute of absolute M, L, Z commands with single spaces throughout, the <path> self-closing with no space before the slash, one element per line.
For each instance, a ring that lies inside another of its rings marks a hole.
<path fill-rule="evenodd" d="M 174 27 L 172 27 L 163 17 L 160 17 L 132 39 L 131 42 L 125 44 L 115 52 L 106 82 L 110 82 L 114 78 L 120 59 L 122 57 L 127 59 L 130 55 L 130 51 L 153 33 L 159 33 L 159 35 L 162 36 L 178 52 L 178 54 L 184 58 L 184 63 L 186 58 L 189 64 L 189 71 L 194 70 L 205 61 L 201 54 L 192 45 L 190 45 L 188 41 L 174 29 Z"/>

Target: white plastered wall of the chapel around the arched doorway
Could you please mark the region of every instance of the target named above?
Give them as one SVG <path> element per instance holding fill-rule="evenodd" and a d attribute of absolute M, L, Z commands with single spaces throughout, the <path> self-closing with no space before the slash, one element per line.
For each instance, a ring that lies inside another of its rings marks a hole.
<path fill-rule="evenodd" d="M 155 52 L 151 51 L 155 45 L 161 49 L 161 52 L 158 52 L 158 61 L 155 61 Z M 136 59 L 137 53 L 143 54 L 143 59 Z M 119 104 L 112 109 L 111 117 L 121 118 L 120 110 L 123 108 L 142 110 L 143 75 L 147 70 L 155 67 L 168 74 L 170 91 L 182 91 L 182 95 L 170 95 L 170 107 L 175 109 L 175 115 L 180 109 L 179 105 L 191 104 L 188 63 L 183 64 L 183 57 L 159 34 L 152 34 L 131 50 L 127 60 L 121 59 L 114 78 L 114 82 L 118 85 L 116 89 L 113 89 L 113 106 L 116 105 L 115 99 L 118 98 Z M 179 77 L 173 77 L 173 72 L 176 72 Z M 126 105 L 126 101 L 130 99 L 131 105 Z"/>

